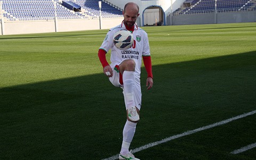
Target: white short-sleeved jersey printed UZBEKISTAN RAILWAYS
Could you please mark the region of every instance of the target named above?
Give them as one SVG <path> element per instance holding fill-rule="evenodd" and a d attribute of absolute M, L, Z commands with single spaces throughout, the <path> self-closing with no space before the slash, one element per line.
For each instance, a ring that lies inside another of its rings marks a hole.
<path fill-rule="evenodd" d="M 113 41 L 114 34 L 121 29 L 126 29 L 124 22 L 122 22 L 121 25 L 111 28 L 108 31 L 102 45 L 100 46 L 100 49 L 103 49 L 106 52 L 111 49 L 111 68 L 114 68 L 116 65 L 119 65 L 122 61 L 126 59 L 133 59 L 136 63 L 135 77 L 140 78 L 142 56 L 150 56 L 148 35 L 145 30 L 135 25 L 134 31 L 132 33 L 134 38 L 133 45 L 130 47 L 130 49 L 122 51 L 114 46 Z"/>

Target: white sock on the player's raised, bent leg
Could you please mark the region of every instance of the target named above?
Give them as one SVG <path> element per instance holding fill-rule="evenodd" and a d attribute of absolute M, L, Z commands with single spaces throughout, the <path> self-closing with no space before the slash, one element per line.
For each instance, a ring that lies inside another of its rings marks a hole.
<path fill-rule="evenodd" d="M 130 107 L 134 107 L 134 82 L 135 82 L 135 75 L 134 71 L 124 71 L 123 73 L 123 82 L 124 82 L 124 102 L 126 109 Z"/>

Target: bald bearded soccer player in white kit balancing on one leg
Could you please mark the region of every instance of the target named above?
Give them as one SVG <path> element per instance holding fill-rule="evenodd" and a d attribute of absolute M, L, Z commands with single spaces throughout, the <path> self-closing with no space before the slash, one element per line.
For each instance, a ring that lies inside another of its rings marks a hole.
<path fill-rule="evenodd" d="M 153 74 L 151 67 L 150 50 L 147 33 L 139 28 L 135 22 L 139 16 L 139 6 L 135 3 L 127 3 L 124 6 L 124 20 L 121 25 L 111 28 L 100 49 L 98 56 L 103 67 L 103 73 L 109 77 L 109 81 L 116 87 L 123 89 L 127 121 L 123 129 L 123 142 L 119 159 L 137 159 L 129 151 L 136 125 L 140 119 L 141 86 L 140 68 L 143 60 L 148 77 L 147 90 L 153 86 Z M 130 49 L 122 51 L 114 46 L 113 36 L 121 30 L 131 31 L 134 37 Z M 110 65 L 106 60 L 106 53 L 111 49 Z"/>

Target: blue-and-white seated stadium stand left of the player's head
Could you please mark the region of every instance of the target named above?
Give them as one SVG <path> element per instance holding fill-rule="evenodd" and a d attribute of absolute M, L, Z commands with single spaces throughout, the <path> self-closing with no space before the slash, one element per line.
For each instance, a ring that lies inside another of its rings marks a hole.
<path fill-rule="evenodd" d="M 7 21 L 17 20 L 50 20 L 98 18 L 100 15 L 98 0 L 71 0 L 82 6 L 81 11 L 73 11 L 62 5 L 59 0 L 3 0 L 3 17 Z M 102 18 L 122 16 L 122 10 L 105 1 L 102 2 Z"/>

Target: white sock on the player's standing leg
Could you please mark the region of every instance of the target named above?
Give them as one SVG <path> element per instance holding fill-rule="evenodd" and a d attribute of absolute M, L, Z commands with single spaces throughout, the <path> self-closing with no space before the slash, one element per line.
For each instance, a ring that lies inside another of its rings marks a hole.
<path fill-rule="evenodd" d="M 123 143 L 122 143 L 122 148 L 120 153 L 121 154 L 127 154 L 129 153 L 129 148 L 135 133 L 137 123 L 126 121 L 124 125 L 124 130 L 123 130 Z"/>

